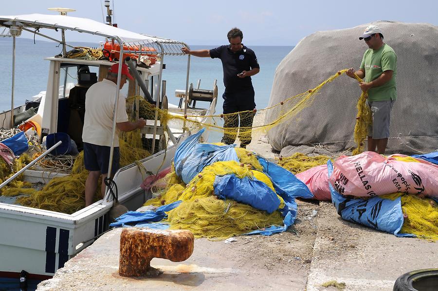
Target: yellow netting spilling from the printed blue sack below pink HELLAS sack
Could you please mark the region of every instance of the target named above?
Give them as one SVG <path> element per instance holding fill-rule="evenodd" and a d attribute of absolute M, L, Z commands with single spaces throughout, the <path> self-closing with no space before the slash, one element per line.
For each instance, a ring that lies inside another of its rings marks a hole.
<path fill-rule="evenodd" d="M 401 233 L 414 234 L 419 238 L 438 240 L 438 205 L 432 199 L 416 195 L 394 193 L 381 198 L 395 200 L 402 197 L 402 212 L 405 216 Z"/>

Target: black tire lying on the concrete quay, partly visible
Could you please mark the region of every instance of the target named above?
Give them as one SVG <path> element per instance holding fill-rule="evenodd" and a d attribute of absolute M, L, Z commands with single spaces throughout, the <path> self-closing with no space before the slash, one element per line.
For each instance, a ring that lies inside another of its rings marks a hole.
<path fill-rule="evenodd" d="M 405 273 L 397 278 L 393 291 L 436 291 L 438 269 L 422 269 Z"/>

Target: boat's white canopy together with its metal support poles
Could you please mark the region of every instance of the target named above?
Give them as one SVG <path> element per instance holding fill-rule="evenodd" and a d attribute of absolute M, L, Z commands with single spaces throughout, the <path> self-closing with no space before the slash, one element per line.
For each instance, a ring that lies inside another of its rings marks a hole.
<path fill-rule="evenodd" d="M 63 53 L 65 56 L 65 35 L 64 32 L 66 30 L 76 31 L 79 33 L 86 33 L 95 36 L 102 36 L 105 38 L 113 39 L 118 42 L 120 45 L 120 60 L 123 60 L 124 54 L 145 54 L 145 51 L 142 51 L 142 47 L 153 48 L 154 50 L 147 51 L 147 55 L 158 55 L 161 58 L 160 61 L 160 74 L 159 74 L 159 83 L 157 90 L 157 96 L 160 96 L 160 89 L 162 84 L 162 75 L 163 75 L 163 58 L 164 55 L 186 55 L 181 50 L 183 47 L 189 48 L 187 44 L 182 41 L 158 37 L 158 36 L 148 36 L 144 34 L 137 34 L 130 32 L 128 30 L 124 30 L 118 27 L 110 26 L 105 23 L 101 23 L 95 20 L 91 20 L 88 18 L 77 18 L 66 15 L 46 15 L 46 14 L 28 14 L 28 15 L 17 15 L 17 16 L 0 16 L 0 30 L 2 27 L 9 28 L 9 31 L 6 32 L 3 30 L 0 36 L 12 36 L 13 37 L 13 68 L 12 68 L 12 100 L 11 100 L 11 108 L 13 111 L 14 108 L 14 81 L 15 81 L 15 38 L 16 34 L 12 33 L 11 28 L 13 29 L 23 29 L 25 31 L 29 31 L 31 33 L 37 34 L 39 36 L 47 37 L 52 39 L 63 45 Z M 62 40 L 57 40 L 50 36 L 45 36 L 39 32 L 40 29 L 52 29 L 55 31 L 61 30 Z M 91 29 L 92 28 L 92 29 Z M 34 31 L 32 31 L 32 29 Z M 18 34 L 18 36 L 20 33 Z M 68 45 L 71 46 L 71 45 Z M 136 50 L 138 49 L 138 51 Z M 117 88 L 120 88 L 121 82 L 121 73 L 122 73 L 122 64 L 123 61 L 119 61 L 118 75 L 117 75 Z M 189 81 L 189 71 L 190 71 L 190 55 L 187 55 L 187 73 L 186 73 L 186 85 L 185 85 L 185 106 L 184 106 L 184 114 L 186 114 L 187 103 L 188 103 L 188 81 Z M 116 132 L 116 120 L 117 120 L 117 107 L 119 100 L 120 91 L 116 91 L 116 96 L 114 98 L 114 120 L 112 125 L 112 142 L 110 147 L 110 161 L 112 161 L 114 155 L 114 136 Z M 160 98 L 157 98 L 156 108 L 159 108 Z M 12 112 L 11 111 L 11 112 Z M 13 114 L 13 113 L 12 113 Z M 155 145 L 155 136 L 157 132 L 157 119 L 158 119 L 158 110 L 155 111 L 155 121 L 154 121 L 154 134 L 152 140 L 152 148 Z M 13 120 L 13 116 L 11 116 L 11 120 Z M 13 121 L 11 121 L 13 123 Z M 185 132 L 185 121 L 183 126 Z M 112 163 L 109 163 L 108 167 L 108 178 L 110 179 Z M 107 185 L 106 191 L 108 192 L 109 187 Z"/>

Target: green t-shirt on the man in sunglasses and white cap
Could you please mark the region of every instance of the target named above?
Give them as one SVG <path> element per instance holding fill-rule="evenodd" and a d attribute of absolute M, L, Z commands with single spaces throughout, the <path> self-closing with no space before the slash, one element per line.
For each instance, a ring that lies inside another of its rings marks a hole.
<path fill-rule="evenodd" d="M 369 101 L 396 100 L 396 60 L 394 50 L 387 44 L 378 50 L 367 49 L 362 59 L 361 69 L 365 70 L 365 82 L 377 79 L 384 71 L 393 71 L 392 78 L 379 87 L 368 90 Z"/>

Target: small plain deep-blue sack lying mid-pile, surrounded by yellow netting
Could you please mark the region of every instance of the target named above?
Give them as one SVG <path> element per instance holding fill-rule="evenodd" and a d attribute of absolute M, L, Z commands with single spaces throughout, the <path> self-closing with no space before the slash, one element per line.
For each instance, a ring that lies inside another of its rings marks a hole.
<path fill-rule="evenodd" d="M 220 199 L 233 199 L 249 204 L 269 214 L 280 205 L 275 192 L 265 183 L 249 177 L 237 178 L 235 174 L 216 176 L 213 183 L 214 193 Z"/>

